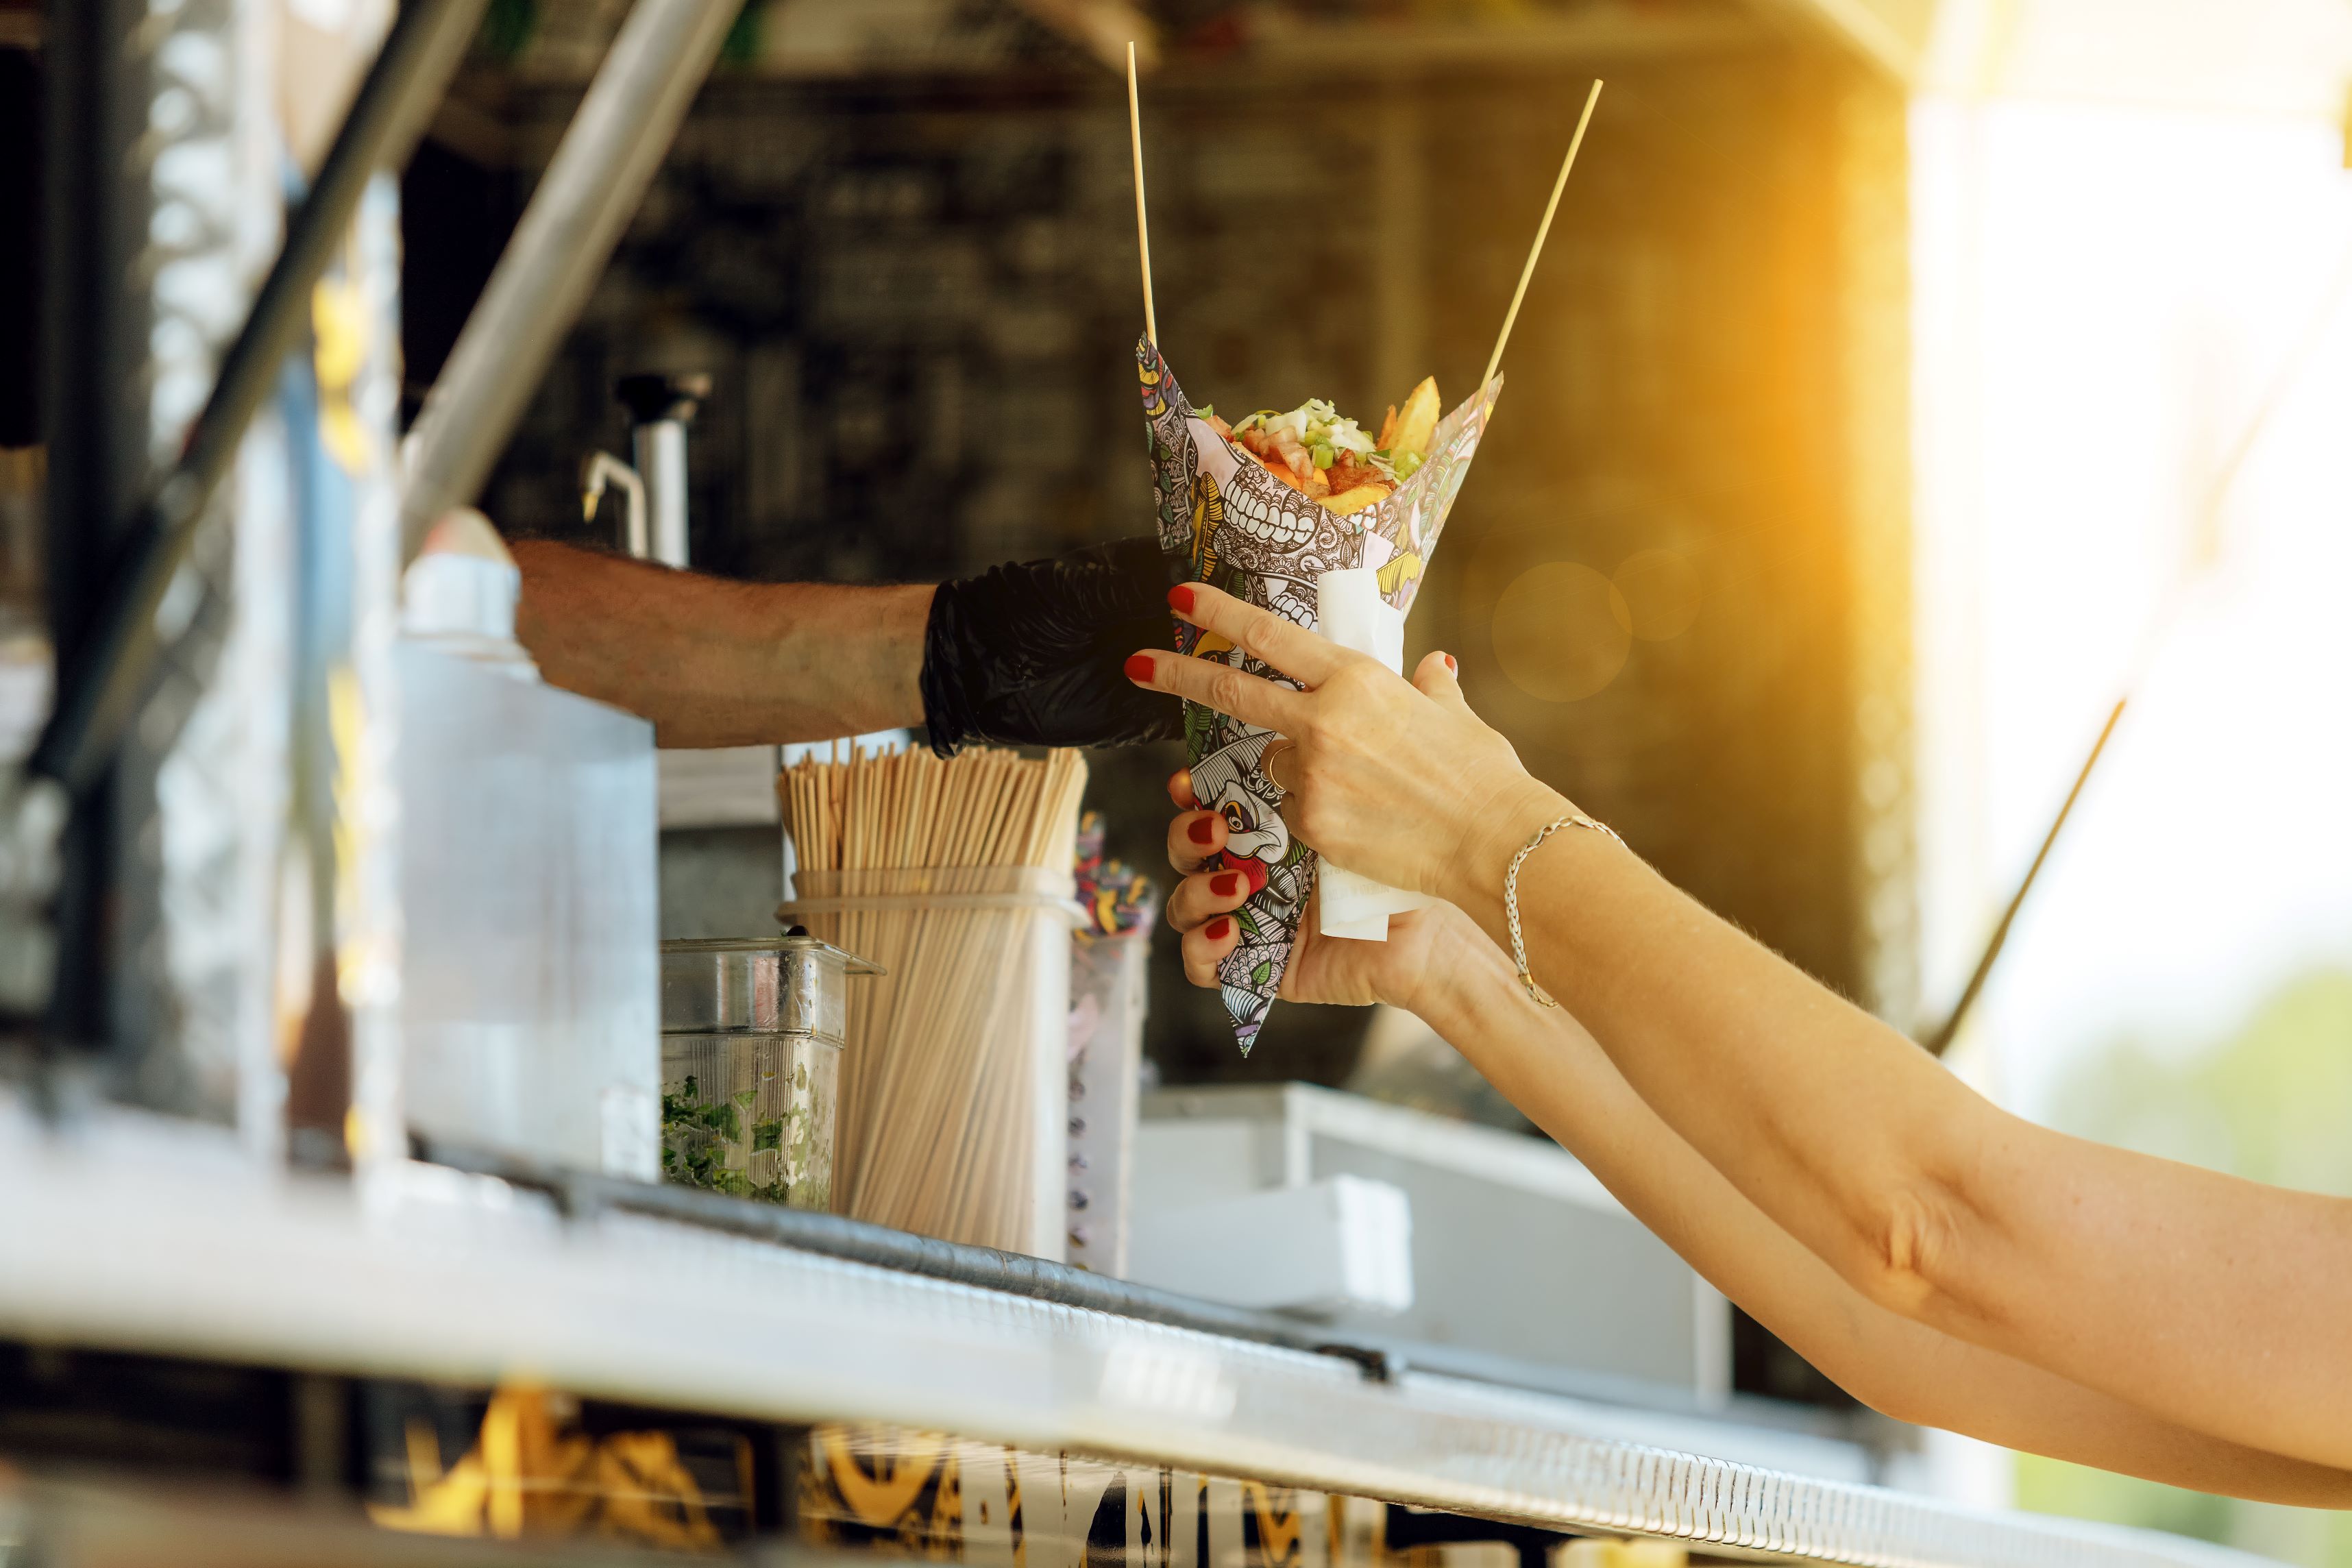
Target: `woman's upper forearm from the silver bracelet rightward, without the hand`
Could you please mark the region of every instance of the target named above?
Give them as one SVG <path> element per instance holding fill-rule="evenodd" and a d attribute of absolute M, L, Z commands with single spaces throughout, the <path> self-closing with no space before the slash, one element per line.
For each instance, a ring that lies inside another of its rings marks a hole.
<path fill-rule="evenodd" d="M 1454 889 L 1498 940 L 1522 827 Z M 2020 1121 L 1602 835 L 1536 851 L 1519 910 L 1536 978 L 1632 1091 L 1863 1295 L 2178 1425 L 2352 1467 L 2352 1204 Z"/>

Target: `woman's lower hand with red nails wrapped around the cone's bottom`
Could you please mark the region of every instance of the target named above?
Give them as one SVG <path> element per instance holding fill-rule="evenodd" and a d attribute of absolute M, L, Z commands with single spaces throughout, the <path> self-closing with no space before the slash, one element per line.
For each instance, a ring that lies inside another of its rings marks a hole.
<path fill-rule="evenodd" d="M 1218 863 L 1225 849 L 1225 818 L 1200 809 L 1190 773 L 1178 771 L 1169 778 L 1169 799 L 1178 806 L 1176 820 L 1169 823 L 1169 865 L 1181 875 L 1176 891 L 1169 893 L 1169 924 L 1183 931 L 1185 978 L 1214 990 L 1216 966 L 1242 940 L 1232 912 L 1265 886 L 1265 870 L 1263 860 L 1242 860 L 1237 870 Z M 1282 999 L 1338 1006 L 1385 1001 L 1421 1011 L 1430 987 L 1442 983 L 1446 952 L 1458 940 L 1484 945 L 1486 938 L 1451 905 L 1390 914 L 1385 943 L 1322 936 L 1317 912 L 1308 910 L 1289 969 L 1282 971 Z"/>

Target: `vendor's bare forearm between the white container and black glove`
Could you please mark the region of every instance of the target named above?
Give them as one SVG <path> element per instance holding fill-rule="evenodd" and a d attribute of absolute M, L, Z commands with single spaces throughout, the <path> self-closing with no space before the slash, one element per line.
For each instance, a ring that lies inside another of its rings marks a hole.
<path fill-rule="evenodd" d="M 550 684 L 661 745 L 776 745 L 922 722 L 929 585 L 727 583 L 548 541 L 515 548 L 515 635 Z"/>

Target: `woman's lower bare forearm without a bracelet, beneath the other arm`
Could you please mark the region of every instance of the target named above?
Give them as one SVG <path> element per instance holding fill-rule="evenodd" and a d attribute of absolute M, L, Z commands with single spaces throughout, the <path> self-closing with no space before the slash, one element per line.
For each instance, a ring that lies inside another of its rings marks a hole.
<path fill-rule="evenodd" d="M 2352 1507 L 2352 1474 L 2159 1420 L 2122 1399 L 1889 1312 L 1684 1143 L 1566 1011 L 1538 1011 L 1503 952 L 1456 922 L 1416 1009 L 1625 1208 L 1863 1403 L 2079 1465 L 2298 1507 Z"/>

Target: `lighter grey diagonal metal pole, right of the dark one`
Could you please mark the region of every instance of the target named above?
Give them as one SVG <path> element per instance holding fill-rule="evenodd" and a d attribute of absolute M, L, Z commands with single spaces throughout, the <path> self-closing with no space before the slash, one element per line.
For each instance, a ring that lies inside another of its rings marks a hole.
<path fill-rule="evenodd" d="M 416 416 L 405 559 L 442 512 L 482 489 L 739 9 L 741 0 L 637 0 L 628 14 Z"/>

